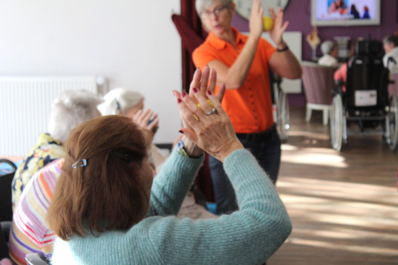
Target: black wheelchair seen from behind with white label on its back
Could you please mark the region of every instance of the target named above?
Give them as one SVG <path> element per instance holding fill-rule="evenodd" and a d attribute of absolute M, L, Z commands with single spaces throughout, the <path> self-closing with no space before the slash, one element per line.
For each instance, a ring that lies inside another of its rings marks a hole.
<path fill-rule="evenodd" d="M 389 98 L 389 70 L 383 65 L 383 46 L 371 40 L 358 41 L 356 55 L 347 63 L 346 91 L 333 91 L 330 141 L 340 151 L 348 135 L 382 135 L 391 150 L 398 141 L 398 100 Z M 352 129 L 357 124 L 359 130 Z M 350 127 L 350 128 L 348 128 Z"/>

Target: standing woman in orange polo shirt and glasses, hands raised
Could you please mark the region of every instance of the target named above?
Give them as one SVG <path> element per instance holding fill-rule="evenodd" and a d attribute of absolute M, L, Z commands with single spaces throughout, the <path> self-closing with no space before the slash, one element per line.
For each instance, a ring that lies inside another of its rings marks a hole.
<path fill-rule="evenodd" d="M 196 0 L 196 10 L 208 37 L 193 53 L 193 61 L 209 75 L 206 65 L 217 72 L 217 85 L 225 84 L 222 106 L 228 113 L 238 139 L 260 162 L 275 183 L 281 161 L 281 140 L 272 114 L 269 70 L 289 79 L 301 77 L 297 58 L 283 40 L 289 22 L 283 21 L 281 8 L 271 8 L 274 27 L 269 31 L 276 48 L 261 38 L 264 8 L 254 0 L 250 16 L 250 34 L 245 36 L 231 26 L 235 13 L 232 0 Z M 267 10 L 268 12 L 268 10 Z M 199 70 L 197 70 L 199 72 Z M 199 89 L 198 73 L 192 88 Z M 218 89 L 218 88 L 217 88 Z M 217 212 L 235 211 L 238 205 L 232 185 L 225 175 L 222 163 L 210 157 Z"/>

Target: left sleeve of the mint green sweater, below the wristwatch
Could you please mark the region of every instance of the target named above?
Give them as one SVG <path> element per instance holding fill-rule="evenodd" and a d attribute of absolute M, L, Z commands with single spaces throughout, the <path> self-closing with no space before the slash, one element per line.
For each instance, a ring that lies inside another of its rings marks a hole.
<path fill-rule="evenodd" d="M 175 148 L 153 180 L 146 217 L 176 215 L 203 160 L 203 155 L 196 159 L 184 157 Z"/>

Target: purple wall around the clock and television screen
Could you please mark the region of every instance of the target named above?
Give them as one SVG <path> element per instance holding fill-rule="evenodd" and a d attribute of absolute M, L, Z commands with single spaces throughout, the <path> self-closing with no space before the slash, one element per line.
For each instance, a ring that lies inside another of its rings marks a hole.
<path fill-rule="evenodd" d="M 351 40 L 355 40 L 358 37 L 366 38 L 370 33 L 372 39 L 382 40 L 386 35 L 397 31 L 397 7 L 397 0 L 381 0 L 379 26 L 318 27 L 318 36 L 322 41 L 333 39 L 335 36 L 350 36 Z M 289 21 L 288 31 L 301 31 L 302 60 L 310 60 L 312 51 L 305 37 L 312 30 L 311 1 L 290 0 L 285 9 L 284 19 Z M 232 25 L 239 31 L 249 31 L 248 21 L 238 14 L 235 14 Z M 316 54 L 321 56 L 319 47 Z"/>

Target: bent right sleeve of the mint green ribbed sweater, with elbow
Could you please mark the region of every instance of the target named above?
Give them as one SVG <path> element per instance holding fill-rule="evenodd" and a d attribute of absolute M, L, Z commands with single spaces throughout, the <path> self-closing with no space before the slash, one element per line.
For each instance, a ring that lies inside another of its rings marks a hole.
<path fill-rule="evenodd" d="M 266 173 L 247 150 L 224 161 L 239 211 L 219 219 L 158 219 L 148 238 L 164 264 L 260 264 L 287 239 L 292 224 Z"/>

